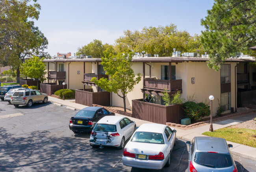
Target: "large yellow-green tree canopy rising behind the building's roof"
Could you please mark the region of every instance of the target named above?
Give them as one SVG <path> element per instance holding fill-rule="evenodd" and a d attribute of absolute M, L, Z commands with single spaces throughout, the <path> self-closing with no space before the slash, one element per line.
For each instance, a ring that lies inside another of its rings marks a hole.
<path fill-rule="evenodd" d="M 115 50 L 123 52 L 133 50 L 134 52 L 147 52 L 158 54 L 161 57 L 172 56 L 173 48 L 181 52 L 196 52 L 204 54 L 200 43 L 200 36 L 191 36 L 187 31 L 177 30 L 177 26 L 145 27 L 142 31 L 124 31 L 115 41 Z"/>

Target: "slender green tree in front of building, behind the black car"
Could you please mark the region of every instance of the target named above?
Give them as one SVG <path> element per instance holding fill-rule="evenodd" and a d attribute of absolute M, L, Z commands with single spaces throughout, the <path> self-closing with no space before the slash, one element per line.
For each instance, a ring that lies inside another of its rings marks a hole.
<path fill-rule="evenodd" d="M 132 69 L 132 57 L 134 53 L 127 51 L 114 55 L 109 51 L 104 51 L 101 64 L 106 71 L 107 78 L 92 78 L 91 81 L 95 82 L 99 87 L 104 88 L 108 92 L 114 92 L 123 99 L 124 111 L 126 111 L 125 98 L 128 92 L 134 89 L 134 85 L 141 80 L 141 74 L 138 73 L 135 77 Z"/>

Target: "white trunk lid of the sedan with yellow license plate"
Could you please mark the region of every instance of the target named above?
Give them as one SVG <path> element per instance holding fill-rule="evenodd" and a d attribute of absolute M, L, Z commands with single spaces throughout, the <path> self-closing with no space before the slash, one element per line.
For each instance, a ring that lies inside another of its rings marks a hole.
<path fill-rule="evenodd" d="M 163 149 L 164 144 L 154 144 L 154 143 L 147 143 L 147 142 L 128 142 L 126 145 L 127 152 L 147 155 L 158 155 L 159 152 Z"/>

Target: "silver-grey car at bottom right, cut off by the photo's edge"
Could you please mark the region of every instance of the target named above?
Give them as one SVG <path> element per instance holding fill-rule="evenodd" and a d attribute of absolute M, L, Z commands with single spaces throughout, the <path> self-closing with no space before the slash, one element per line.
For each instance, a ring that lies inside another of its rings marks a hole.
<path fill-rule="evenodd" d="M 189 144 L 189 172 L 237 172 L 225 139 L 218 137 L 194 137 Z"/>

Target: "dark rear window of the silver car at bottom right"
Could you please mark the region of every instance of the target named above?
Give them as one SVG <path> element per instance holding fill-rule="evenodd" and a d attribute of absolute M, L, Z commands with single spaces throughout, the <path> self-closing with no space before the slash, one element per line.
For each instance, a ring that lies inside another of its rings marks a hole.
<path fill-rule="evenodd" d="M 233 165 L 230 155 L 208 152 L 196 152 L 194 161 L 199 165 L 212 168 L 226 168 Z"/>

